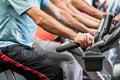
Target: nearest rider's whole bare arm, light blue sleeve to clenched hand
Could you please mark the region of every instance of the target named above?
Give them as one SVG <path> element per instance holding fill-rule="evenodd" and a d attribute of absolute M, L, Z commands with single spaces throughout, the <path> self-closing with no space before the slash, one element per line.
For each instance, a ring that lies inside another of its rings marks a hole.
<path fill-rule="evenodd" d="M 90 34 L 75 33 L 73 30 L 62 25 L 38 7 L 32 7 L 25 13 L 30 16 L 37 25 L 42 26 L 42 28 L 48 32 L 69 38 L 77 43 L 80 43 L 82 47 L 91 46 L 94 43 L 94 39 Z"/>

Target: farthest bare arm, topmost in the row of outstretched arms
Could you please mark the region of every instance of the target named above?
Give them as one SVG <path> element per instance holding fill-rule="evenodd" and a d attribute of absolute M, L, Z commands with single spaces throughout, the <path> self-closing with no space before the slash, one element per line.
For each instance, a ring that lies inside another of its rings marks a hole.
<path fill-rule="evenodd" d="M 84 0 L 70 0 L 72 5 L 74 5 L 78 10 L 83 11 L 93 17 L 98 19 L 102 19 L 103 15 L 105 14 L 102 11 L 97 10 L 96 8 L 88 5 Z"/>

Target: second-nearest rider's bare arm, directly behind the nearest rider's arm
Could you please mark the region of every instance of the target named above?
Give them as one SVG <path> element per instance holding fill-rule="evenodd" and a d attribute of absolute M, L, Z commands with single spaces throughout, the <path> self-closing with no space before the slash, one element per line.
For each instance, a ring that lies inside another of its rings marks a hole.
<path fill-rule="evenodd" d="M 55 5 L 50 5 L 44 11 L 67 27 L 78 30 L 80 32 L 90 33 L 92 35 L 96 33 L 96 30 L 86 27 L 84 24 L 80 23 L 74 17 L 72 17 L 68 12 L 57 8 Z"/>

